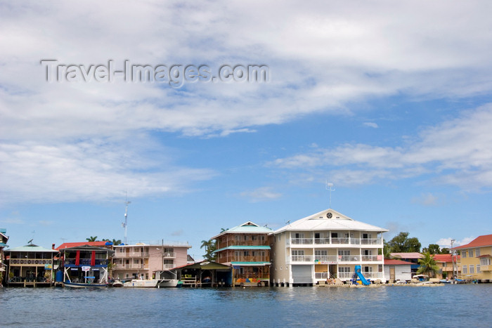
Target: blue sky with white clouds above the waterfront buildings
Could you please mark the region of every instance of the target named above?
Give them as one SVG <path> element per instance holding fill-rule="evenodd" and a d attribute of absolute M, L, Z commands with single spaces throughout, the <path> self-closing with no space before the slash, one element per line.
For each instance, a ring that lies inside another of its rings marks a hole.
<path fill-rule="evenodd" d="M 488 235 L 491 11 L 0 1 L 0 228 L 10 247 L 124 240 L 127 199 L 129 242 L 195 258 L 221 228 L 330 206 L 422 247 Z"/>

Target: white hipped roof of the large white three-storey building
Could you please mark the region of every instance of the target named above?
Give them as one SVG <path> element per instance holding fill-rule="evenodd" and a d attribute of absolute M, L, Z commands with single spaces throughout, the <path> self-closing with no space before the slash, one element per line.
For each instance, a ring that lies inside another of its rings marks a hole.
<path fill-rule="evenodd" d="M 371 231 L 371 232 L 387 232 L 387 229 L 363 223 L 361 221 L 355 221 L 348 216 L 344 216 L 333 209 L 325 209 L 306 218 L 301 218 L 297 221 L 289 223 L 282 228 L 276 230 L 274 233 L 287 231 L 287 230 L 357 230 L 357 231 Z"/>

